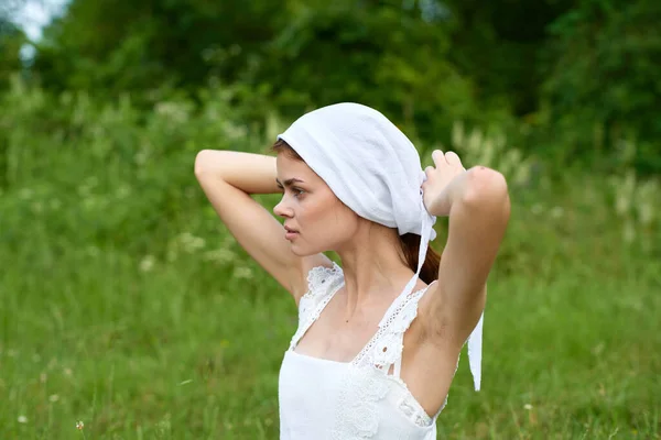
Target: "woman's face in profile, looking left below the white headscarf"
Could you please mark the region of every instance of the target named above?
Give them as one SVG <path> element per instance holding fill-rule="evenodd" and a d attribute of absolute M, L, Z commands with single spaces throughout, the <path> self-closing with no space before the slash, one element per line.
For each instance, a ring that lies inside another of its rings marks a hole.
<path fill-rule="evenodd" d="M 273 212 L 284 218 L 285 227 L 299 231 L 291 239 L 295 255 L 336 251 L 351 239 L 360 218 L 307 164 L 281 153 L 277 166 L 284 194 Z"/>

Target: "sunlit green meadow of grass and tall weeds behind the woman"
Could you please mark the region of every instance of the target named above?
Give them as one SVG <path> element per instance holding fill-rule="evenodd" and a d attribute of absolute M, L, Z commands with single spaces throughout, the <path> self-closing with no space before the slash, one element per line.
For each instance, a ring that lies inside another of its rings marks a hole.
<path fill-rule="evenodd" d="M 238 124 L 225 96 L 199 114 L 163 102 L 145 120 L 127 97 L 52 101 L 20 84 L 4 105 L 0 438 L 278 438 L 295 306 L 193 176 L 198 150 L 264 151 L 272 133 Z M 459 123 L 448 147 L 501 169 L 513 206 L 489 279 L 483 391 L 464 355 L 440 438 L 660 438 L 658 183 L 549 173 Z"/>

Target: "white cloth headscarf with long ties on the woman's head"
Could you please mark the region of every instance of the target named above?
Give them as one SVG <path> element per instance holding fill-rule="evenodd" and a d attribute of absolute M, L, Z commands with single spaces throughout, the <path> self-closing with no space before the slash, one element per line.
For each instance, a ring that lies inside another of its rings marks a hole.
<path fill-rule="evenodd" d="M 278 139 L 286 142 L 358 216 L 397 228 L 400 235 L 412 232 L 421 237 L 418 271 L 386 312 L 390 315 L 415 287 L 429 242 L 436 238 L 436 217 L 426 211 L 422 199 L 426 175 L 418 150 L 383 114 L 353 102 L 306 113 Z M 468 338 L 476 391 L 480 387 L 483 318 Z M 379 327 L 383 324 L 384 320 Z"/>

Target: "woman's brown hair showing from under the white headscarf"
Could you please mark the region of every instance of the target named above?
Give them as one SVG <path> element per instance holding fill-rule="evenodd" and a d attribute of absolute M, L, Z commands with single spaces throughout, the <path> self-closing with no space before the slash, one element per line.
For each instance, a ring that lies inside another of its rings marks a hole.
<path fill-rule="evenodd" d="M 299 155 L 286 142 L 279 139 L 273 146 L 271 152 L 275 154 L 283 153 L 288 157 L 294 161 L 303 161 L 303 157 Z M 411 271 L 418 270 L 418 253 L 420 252 L 420 235 L 412 232 L 399 235 L 400 251 L 407 265 Z M 430 245 L 427 246 L 427 254 L 425 256 L 422 270 L 420 271 L 420 279 L 426 284 L 431 284 L 434 279 L 438 278 L 438 266 L 441 264 L 441 255 Z"/>

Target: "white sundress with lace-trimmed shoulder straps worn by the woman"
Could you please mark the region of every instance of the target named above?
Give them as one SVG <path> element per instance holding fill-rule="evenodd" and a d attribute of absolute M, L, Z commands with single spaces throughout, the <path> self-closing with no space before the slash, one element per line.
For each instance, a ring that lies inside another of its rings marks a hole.
<path fill-rule="evenodd" d="M 318 266 L 310 271 L 307 282 L 310 290 L 299 305 L 299 329 L 280 369 L 280 439 L 435 439 L 436 419 L 447 397 L 430 416 L 400 378 L 404 332 L 429 286 L 401 298 L 351 362 L 337 362 L 294 349 L 344 285 L 344 273 L 336 263 L 332 268 Z"/>

